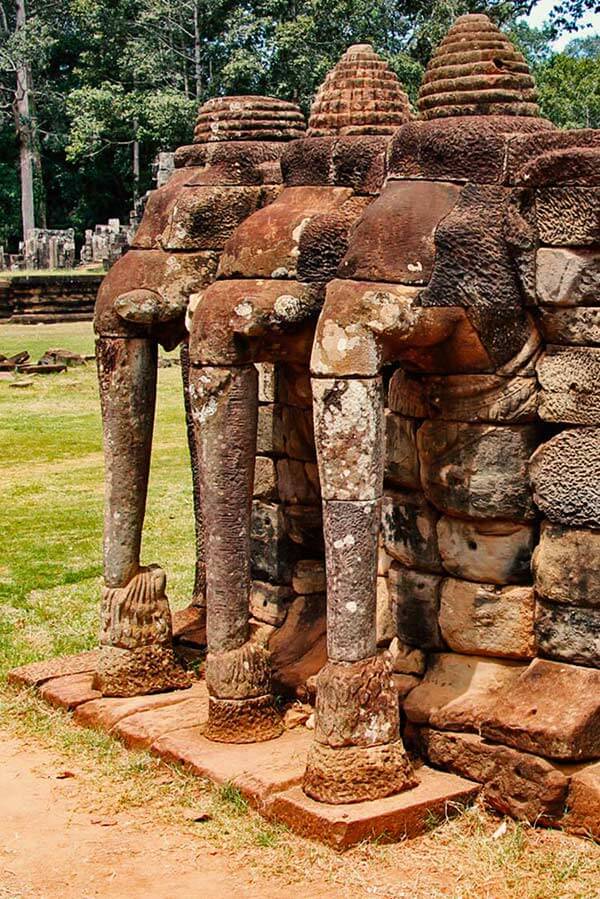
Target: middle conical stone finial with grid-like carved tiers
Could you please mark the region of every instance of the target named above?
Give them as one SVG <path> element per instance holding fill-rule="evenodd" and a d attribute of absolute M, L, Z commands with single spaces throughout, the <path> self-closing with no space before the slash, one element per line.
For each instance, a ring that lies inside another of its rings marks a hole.
<path fill-rule="evenodd" d="M 354 44 L 317 91 L 308 135 L 391 134 L 409 119 L 408 97 L 395 72 L 370 44 Z"/>

